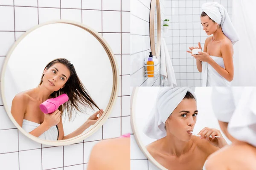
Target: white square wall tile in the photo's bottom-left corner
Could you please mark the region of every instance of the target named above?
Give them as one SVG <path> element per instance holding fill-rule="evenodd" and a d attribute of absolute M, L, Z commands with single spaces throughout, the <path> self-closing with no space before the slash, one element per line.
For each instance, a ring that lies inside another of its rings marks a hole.
<path fill-rule="evenodd" d="M 8 167 L 9 170 L 19 169 L 19 156 L 18 153 L 6 153 L 0 154 L 0 165 L 1 167 Z"/>

